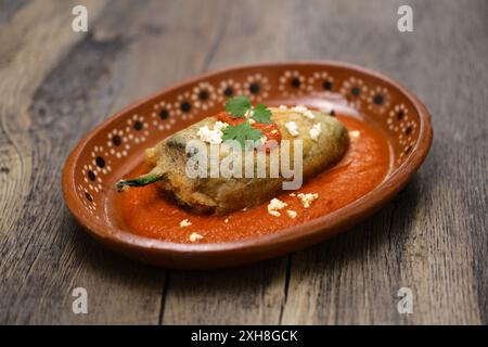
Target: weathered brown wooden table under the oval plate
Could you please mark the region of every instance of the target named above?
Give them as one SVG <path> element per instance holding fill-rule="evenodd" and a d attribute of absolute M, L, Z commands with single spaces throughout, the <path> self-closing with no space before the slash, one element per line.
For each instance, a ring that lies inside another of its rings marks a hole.
<path fill-rule="evenodd" d="M 89 33 L 72 30 L 88 8 Z M 399 33 L 397 9 L 413 9 Z M 0 323 L 488 323 L 488 1 L 0 1 Z M 67 211 L 63 163 L 133 101 L 240 63 L 342 60 L 413 90 L 434 144 L 367 222 L 205 272 L 115 255 Z M 88 291 L 88 314 L 72 292 Z M 413 313 L 400 314 L 409 287 Z"/>

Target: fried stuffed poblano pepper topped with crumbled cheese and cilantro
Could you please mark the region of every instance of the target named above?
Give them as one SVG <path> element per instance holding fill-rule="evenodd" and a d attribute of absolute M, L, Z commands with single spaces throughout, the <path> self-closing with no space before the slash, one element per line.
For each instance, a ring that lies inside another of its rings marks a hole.
<path fill-rule="evenodd" d="M 191 146 L 195 140 L 203 146 Z M 283 189 L 294 189 L 292 183 L 297 176 L 308 180 L 331 167 L 344 156 L 348 144 L 346 128 L 328 112 L 305 106 L 253 106 L 247 98 L 236 97 L 228 101 L 226 112 L 206 117 L 147 149 L 145 162 L 151 171 L 120 180 L 116 188 L 124 191 L 155 183 L 195 213 L 223 215 L 264 203 Z M 216 146 L 217 155 L 213 152 Z M 197 156 L 205 160 L 195 162 Z M 283 168 L 285 157 L 288 170 Z M 204 175 L 189 175 L 189 163 L 202 162 L 206 167 L 198 172 Z M 235 175 L 215 175 L 222 167 L 217 165 L 222 163 L 231 163 Z"/>

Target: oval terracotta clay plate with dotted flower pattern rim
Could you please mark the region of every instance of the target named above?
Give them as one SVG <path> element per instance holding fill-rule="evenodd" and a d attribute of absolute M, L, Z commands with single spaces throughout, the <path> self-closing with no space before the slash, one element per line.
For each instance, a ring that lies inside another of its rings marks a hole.
<path fill-rule="evenodd" d="M 265 213 L 262 221 L 249 224 L 256 229 L 252 237 L 183 243 L 131 232 L 118 207 L 115 182 L 143 162 L 146 147 L 218 113 L 228 97 L 236 94 L 247 95 L 254 103 L 304 104 L 360 119 L 376 129 L 387 144 L 385 177 L 336 210 L 316 210 L 313 218 L 259 234 L 259 223 L 266 229 L 270 218 Z M 240 66 L 165 89 L 103 121 L 67 158 L 63 191 L 78 222 L 97 240 L 130 258 L 169 268 L 229 267 L 304 248 L 360 222 L 406 185 L 425 159 L 432 138 L 425 106 L 398 82 L 377 73 L 335 62 Z"/>

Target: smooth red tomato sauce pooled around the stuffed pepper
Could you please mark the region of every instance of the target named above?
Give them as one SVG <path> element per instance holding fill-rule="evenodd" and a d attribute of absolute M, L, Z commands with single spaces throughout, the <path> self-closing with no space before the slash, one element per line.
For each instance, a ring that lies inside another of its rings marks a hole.
<path fill-rule="evenodd" d="M 350 136 L 350 146 L 337 165 L 305 182 L 299 190 L 283 191 L 277 196 L 288 204 L 281 210 L 281 217 L 268 214 L 268 203 L 227 216 L 195 215 L 166 201 L 155 184 L 117 194 L 116 204 L 132 233 L 177 243 L 191 243 L 193 232 L 203 236 L 195 243 L 257 237 L 330 214 L 372 191 L 390 170 L 389 146 L 380 130 L 357 118 L 341 115 L 337 118 L 349 133 L 358 130 L 359 137 Z M 146 171 L 141 165 L 130 176 Z M 309 208 L 304 208 L 300 200 L 290 196 L 291 193 L 318 193 L 319 197 Z M 296 218 L 288 217 L 285 209 L 295 210 Z M 181 228 L 183 219 L 191 226 Z"/>

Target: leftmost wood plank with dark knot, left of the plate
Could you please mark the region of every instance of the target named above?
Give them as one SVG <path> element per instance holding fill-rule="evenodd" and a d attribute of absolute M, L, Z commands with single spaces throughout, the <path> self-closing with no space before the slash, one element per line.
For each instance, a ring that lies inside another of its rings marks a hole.
<path fill-rule="evenodd" d="M 11 43 L 0 54 L 0 322 L 157 324 L 165 271 L 89 239 L 64 207 L 61 168 L 106 115 L 201 70 L 211 43 L 203 33 L 216 24 L 178 20 L 198 17 L 200 1 L 93 1 L 91 33 L 79 36 L 73 3 L 24 7 L 0 40 Z M 86 316 L 72 312 L 76 286 L 88 291 Z"/>

